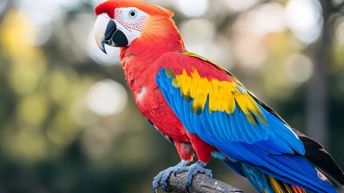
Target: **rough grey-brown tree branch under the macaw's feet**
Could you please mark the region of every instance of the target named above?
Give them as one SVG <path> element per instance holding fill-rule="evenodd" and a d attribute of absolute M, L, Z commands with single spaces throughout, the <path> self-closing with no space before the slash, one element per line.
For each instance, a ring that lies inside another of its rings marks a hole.
<path fill-rule="evenodd" d="M 185 190 L 185 176 L 187 172 L 174 176 L 172 173 L 168 179 L 168 188 L 174 192 L 186 192 Z M 189 187 L 190 193 L 230 193 L 243 192 L 242 190 L 227 185 L 222 181 L 212 179 L 205 174 L 197 174 L 192 178 L 192 184 Z"/>

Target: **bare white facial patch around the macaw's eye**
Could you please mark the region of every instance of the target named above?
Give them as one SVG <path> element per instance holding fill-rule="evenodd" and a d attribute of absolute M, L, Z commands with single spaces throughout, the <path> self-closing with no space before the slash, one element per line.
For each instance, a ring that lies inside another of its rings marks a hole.
<path fill-rule="evenodd" d="M 148 14 L 138 8 L 117 8 L 114 10 L 114 22 L 128 39 L 128 45 L 141 36 Z"/>

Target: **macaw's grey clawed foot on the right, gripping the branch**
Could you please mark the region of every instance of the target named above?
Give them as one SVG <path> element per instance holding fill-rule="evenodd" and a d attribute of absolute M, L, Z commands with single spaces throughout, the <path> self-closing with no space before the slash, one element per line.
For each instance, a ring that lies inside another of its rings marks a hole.
<path fill-rule="evenodd" d="M 197 161 L 196 163 L 190 165 L 190 166 L 184 166 L 184 167 L 179 167 L 177 170 L 174 170 L 174 176 L 177 174 L 180 174 L 181 172 L 186 172 L 188 173 L 185 176 L 185 183 L 186 183 L 186 191 L 189 191 L 189 187 L 192 183 L 192 177 L 196 176 L 196 174 L 205 174 L 207 176 L 210 176 L 210 178 L 214 178 L 214 175 L 212 174 L 212 170 L 205 169 L 205 165 L 207 163 L 203 163 L 202 161 Z"/>

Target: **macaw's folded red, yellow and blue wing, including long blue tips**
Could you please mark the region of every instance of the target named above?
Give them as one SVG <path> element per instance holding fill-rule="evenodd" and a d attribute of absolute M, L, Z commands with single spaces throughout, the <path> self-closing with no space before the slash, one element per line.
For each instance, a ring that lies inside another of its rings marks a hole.
<path fill-rule="evenodd" d="M 191 52 L 169 52 L 156 61 L 154 73 L 188 132 L 231 161 L 309 190 L 323 187 L 314 166 L 301 156 L 305 147 L 290 126 L 221 65 Z"/>

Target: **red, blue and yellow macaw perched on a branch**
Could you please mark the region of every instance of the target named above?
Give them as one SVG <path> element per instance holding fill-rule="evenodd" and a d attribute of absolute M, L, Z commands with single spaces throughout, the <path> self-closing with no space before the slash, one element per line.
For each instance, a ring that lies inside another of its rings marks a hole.
<path fill-rule="evenodd" d="M 212 158 L 258 192 L 337 192 L 329 179 L 344 187 L 341 167 L 320 143 L 291 128 L 231 72 L 185 48 L 174 12 L 147 1 L 110 0 L 95 14 L 99 49 L 119 48 L 139 111 L 181 159 L 154 177 L 153 192 L 171 192 L 168 178 L 181 172 L 189 191 L 196 174 L 213 177 L 205 168 Z"/>

